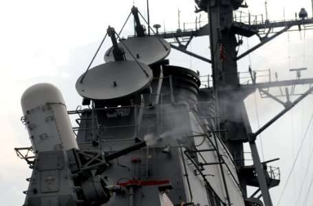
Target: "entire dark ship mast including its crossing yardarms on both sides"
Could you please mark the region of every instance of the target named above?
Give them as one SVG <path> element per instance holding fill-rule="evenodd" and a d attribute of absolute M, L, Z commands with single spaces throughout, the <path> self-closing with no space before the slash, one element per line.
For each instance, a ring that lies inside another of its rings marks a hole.
<path fill-rule="evenodd" d="M 217 130 L 229 130 L 228 133 L 220 133 L 220 137 L 224 140 L 226 146 L 230 150 L 230 153 L 235 159 L 237 168 L 239 168 L 239 182 L 241 189 L 244 191 L 244 194 L 247 196 L 247 185 L 252 185 L 259 187 L 259 189 L 252 194 L 252 198 L 261 191 L 259 197 L 263 197 L 263 203 L 266 206 L 272 206 L 272 201 L 269 194 L 270 187 L 274 187 L 279 184 L 279 180 L 272 179 L 268 176 L 266 171 L 266 163 L 270 161 L 261 162 L 259 158 L 259 153 L 255 140 L 257 135 L 259 135 L 263 130 L 268 128 L 273 122 L 275 122 L 281 115 L 290 110 L 296 103 L 305 98 L 306 95 L 312 92 L 312 88 L 306 91 L 294 102 L 282 102 L 278 100 L 274 95 L 268 93 L 266 89 L 270 87 L 283 87 L 290 84 L 295 87 L 297 84 L 310 84 L 313 82 L 313 79 L 304 79 L 304 80 L 293 80 L 290 81 L 276 81 L 276 82 L 266 82 L 266 83 L 257 83 L 255 76 L 253 76 L 252 71 L 250 71 L 252 84 L 241 85 L 238 76 L 237 69 L 237 60 L 243 58 L 244 56 L 255 51 L 259 47 L 268 43 L 272 39 L 276 38 L 280 34 L 290 30 L 294 25 L 301 29 L 303 25 L 312 25 L 313 19 L 307 18 L 305 15 L 305 10 L 301 9 L 299 17 L 301 19 L 296 19 L 292 21 L 275 21 L 270 22 L 268 20 L 268 12 L 266 8 L 266 21 L 251 23 L 250 18 L 248 22 L 240 22 L 237 19 L 234 19 L 233 12 L 239 7 L 247 8 L 246 3 L 243 4 L 243 0 L 224 0 L 224 1 L 215 1 L 215 0 L 195 0 L 198 9 L 195 12 L 207 12 L 208 14 L 208 24 L 202 26 L 195 31 L 183 30 L 180 32 L 166 32 L 160 34 L 163 38 L 175 38 L 176 43 L 179 44 L 179 47 L 171 45 L 173 49 L 177 49 L 180 52 L 191 55 L 205 62 L 211 63 L 212 68 L 212 78 L 213 78 L 213 94 L 215 95 L 215 115 L 220 116 L 218 122 L 216 123 Z M 267 3 L 267 1 L 266 1 Z M 267 5 L 266 5 L 267 6 Z M 312 0 L 312 10 L 313 10 L 313 0 Z M 250 15 L 250 14 L 249 14 Z M 281 30 L 274 30 L 276 28 L 282 28 Z M 260 39 L 260 43 L 248 49 L 237 56 L 237 47 L 241 45 L 242 42 L 237 41 L 236 35 L 250 37 L 257 35 Z M 272 35 L 270 35 L 272 34 Z M 186 51 L 188 43 L 191 41 L 193 36 L 210 36 L 210 48 L 211 48 L 211 60 L 208 60 L 197 54 Z M 183 45 L 179 38 L 186 38 L 189 36 L 189 41 L 186 45 Z M 250 123 L 248 120 L 248 115 L 246 108 L 244 106 L 244 99 L 255 92 L 256 89 L 259 89 L 261 94 L 265 94 L 267 97 L 270 97 L 285 106 L 285 109 L 281 111 L 278 115 L 273 117 L 267 124 L 261 127 L 256 133 L 252 133 Z M 212 92 L 211 89 L 203 89 L 203 91 Z M 286 93 L 287 100 L 289 100 L 289 94 Z M 248 142 L 250 145 L 250 150 L 252 152 L 252 159 L 254 164 L 251 166 L 246 166 L 244 164 L 244 143 Z M 276 159 L 275 159 L 276 160 Z M 222 170 L 222 168 L 221 168 Z M 254 179 L 248 178 L 247 176 L 257 174 L 257 177 Z M 223 171 L 222 171 L 223 174 Z M 268 184 L 270 182 L 270 184 Z M 227 188 L 227 185 L 225 185 Z M 226 190 L 227 193 L 227 190 Z M 227 196 L 227 194 L 226 194 Z M 228 205 L 230 201 L 228 200 Z"/>

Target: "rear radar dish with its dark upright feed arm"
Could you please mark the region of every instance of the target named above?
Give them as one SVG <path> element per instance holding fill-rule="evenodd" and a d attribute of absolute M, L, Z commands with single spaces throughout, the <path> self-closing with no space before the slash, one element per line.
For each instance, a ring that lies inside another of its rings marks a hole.
<path fill-rule="evenodd" d="M 171 52 L 171 46 L 164 39 L 159 38 L 158 35 L 147 36 L 145 34 L 146 29 L 144 25 L 141 25 L 140 23 L 138 16 L 140 12 L 138 12 L 138 8 L 131 8 L 131 13 L 135 19 L 135 30 L 137 36 L 128 38 L 126 40 L 121 39 L 117 47 L 125 51 L 125 60 L 138 60 L 139 62 L 149 66 L 161 62 L 164 60 L 164 58 L 169 56 L 169 53 Z M 114 58 L 113 49 L 114 45 L 105 53 L 105 62 L 112 62 L 116 60 L 116 58 Z"/>

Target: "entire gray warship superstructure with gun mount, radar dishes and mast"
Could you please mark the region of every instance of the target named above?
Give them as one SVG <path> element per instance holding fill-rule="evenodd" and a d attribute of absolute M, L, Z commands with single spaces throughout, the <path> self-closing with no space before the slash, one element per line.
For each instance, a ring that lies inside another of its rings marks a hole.
<path fill-rule="evenodd" d="M 25 206 L 272 205 L 269 189 L 279 185 L 279 169 L 268 166 L 272 160 L 261 162 L 255 140 L 313 87 L 294 102 L 281 102 L 267 89 L 313 80 L 257 83 L 249 71 L 251 84 L 242 85 L 237 60 L 292 26 L 313 20 L 303 9 L 294 21 L 244 23 L 233 15 L 247 6 L 244 1 L 195 3 L 196 12 L 206 12 L 209 20 L 196 30 L 160 33 L 155 25 L 154 31 L 149 21 L 142 25 L 136 7 L 131 8 L 135 36 L 120 38 L 108 27 L 105 38 L 111 38 L 112 47 L 105 63 L 89 69 L 90 64 L 76 82 L 83 108 L 67 112 L 52 84 L 25 91 L 22 119 L 32 147 L 16 149 L 33 169 Z M 283 29 L 274 32 L 274 27 Z M 261 36 L 261 31 L 266 32 Z M 211 59 L 186 50 L 193 37 L 206 35 Z M 238 56 L 242 42 L 236 35 L 257 35 L 260 43 Z M 211 63 L 211 87 L 200 87 L 199 73 L 171 65 L 166 59 L 171 49 Z M 244 99 L 256 89 L 285 109 L 252 133 Z M 78 115 L 78 127 L 72 128 L 67 114 Z M 244 161 L 247 142 L 252 165 Z M 248 186 L 257 188 L 252 196 Z"/>

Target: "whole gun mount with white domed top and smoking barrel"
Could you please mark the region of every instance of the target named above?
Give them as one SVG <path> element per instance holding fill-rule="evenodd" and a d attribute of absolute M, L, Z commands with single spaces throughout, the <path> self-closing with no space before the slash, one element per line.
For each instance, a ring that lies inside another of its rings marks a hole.
<path fill-rule="evenodd" d="M 16 148 L 17 155 L 33 169 L 25 206 L 34 205 L 102 205 L 118 186 L 108 186 L 102 176 L 109 161 L 146 146 L 135 144 L 105 154 L 102 150 L 78 148 L 61 92 L 52 84 L 35 84 L 25 91 L 21 100 L 23 122 L 28 128 L 32 148 L 27 154 Z M 32 151 L 34 157 L 28 153 Z"/>

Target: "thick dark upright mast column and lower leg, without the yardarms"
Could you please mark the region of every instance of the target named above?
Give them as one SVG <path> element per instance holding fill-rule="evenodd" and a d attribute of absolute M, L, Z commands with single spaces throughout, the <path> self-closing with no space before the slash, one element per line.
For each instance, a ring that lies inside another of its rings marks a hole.
<path fill-rule="evenodd" d="M 235 5 L 235 7 L 237 7 L 237 5 Z M 216 92 L 215 98 L 217 99 L 216 107 L 218 108 L 219 114 L 223 117 L 223 124 L 225 126 L 227 124 L 227 128 L 230 127 L 239 130 L 239 128 L 242 128 L 242 124 L 244 124 L 245 120 L 248 120 L 246 108 L 244 107 L 244 99 L 248 93 L 233 92 L 239 85 L 237 62 L 235 60 L 237 58 L 236 47 L 238 45 L 235 37 L 237 31 L 232 30 L 233 8 L 234 1 L 208 1 L 207 4 L 208 18 L 210 19 L 211 60 L 214 62 L 214 64 L 212 63 L 212 67 L 214 77 L 213 85 Z M 220 51 L 214 52 L 217 51 L 217 48 L 220 48 Z M 224 48 L 226 54 L 221 54 Z M 222 88 L 227 88 L 228 91 L 221 91 Z M 272 206 L 255 139 L 250 138 L 248 133 L 252 133 L 252 130 L 250 125 L 246 123 L 244 130 L 241 130 L 240 137 L 241 139 L 248 139 L 249 141 L 263 202 L 265 205 Z M 234 143 L 237 138 L 237 135 L 228 135 L 228 137 L 226 137 L 232 154 L 244 151 L 244 141 Z M 244 162 L 241 162 L 239 166 L 244 167 Z"/>

